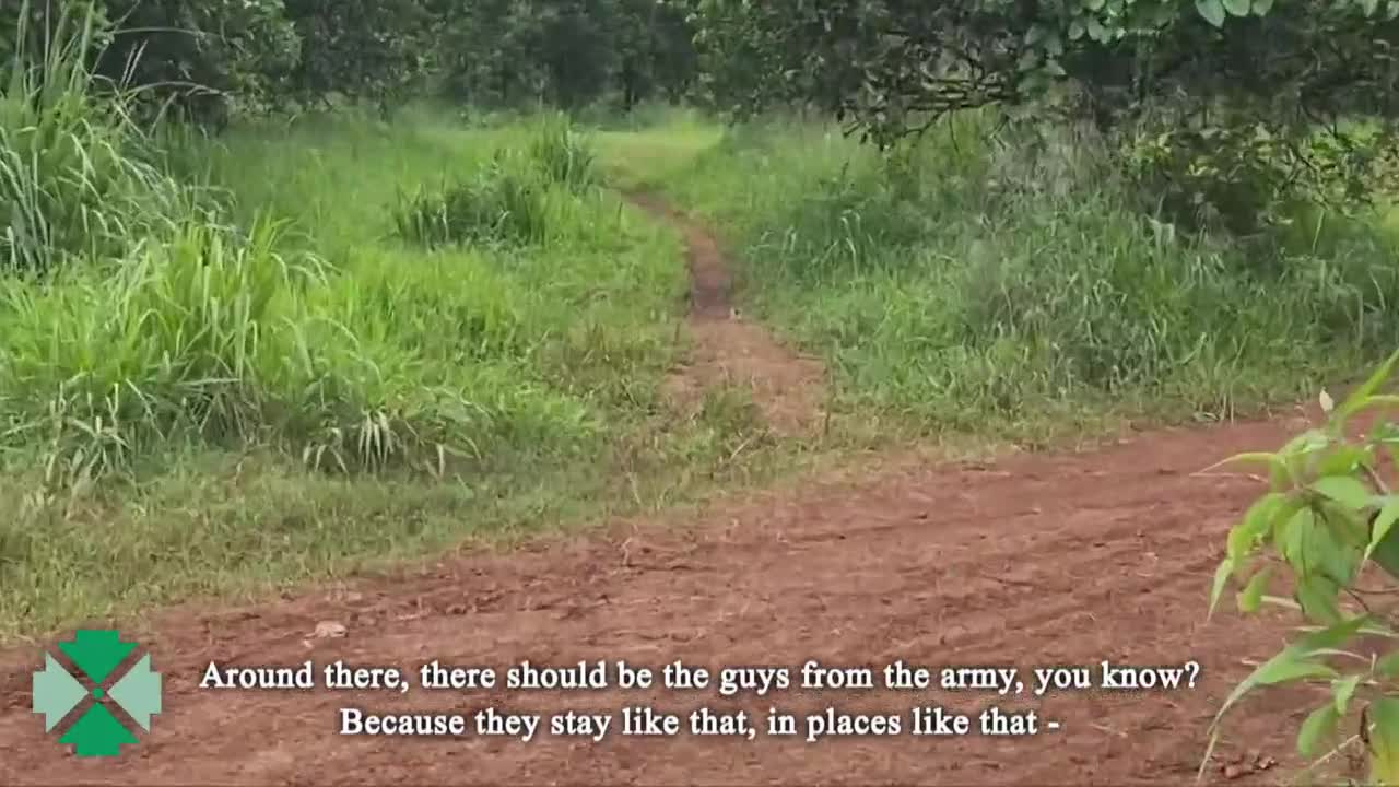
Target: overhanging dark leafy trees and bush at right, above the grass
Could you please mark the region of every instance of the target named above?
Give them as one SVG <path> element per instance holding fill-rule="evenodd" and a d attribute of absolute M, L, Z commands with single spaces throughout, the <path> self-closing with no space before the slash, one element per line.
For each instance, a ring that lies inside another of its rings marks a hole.
<path fill-rule="evenodd" d="M 881 144 L 995 105 L 1091 123 L 1174 218 L 1240 234 L 1393 171 L 1391 0 L 688 0 L 715 94 Z M 1357 127 L 1363 133 L 1357 133 Z"/>

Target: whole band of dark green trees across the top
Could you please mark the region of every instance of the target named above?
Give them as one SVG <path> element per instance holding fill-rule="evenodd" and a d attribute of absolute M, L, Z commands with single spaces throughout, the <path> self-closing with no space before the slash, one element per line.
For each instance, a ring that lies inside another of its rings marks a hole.
<path fill-rule="evenodd" d="M 997 105 L 1038 126 L 1091 122 L 1151 196 L 1144 207 L 1245 235 L 1297 202 L 1363 204 L 1399 171 L 1399 0 L 92 4 L 118 29 L 99 73 L 200 120 L 337 98 L 383 111 L 422 95 L 628 109 L 690 98 L 740 115 L 813 106 L 891 144 Z M 18 21 L 0 14 L 0 27 Z M 29 15 L 39 35 L 52 6 Z"/>

